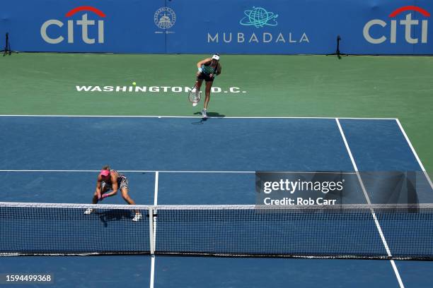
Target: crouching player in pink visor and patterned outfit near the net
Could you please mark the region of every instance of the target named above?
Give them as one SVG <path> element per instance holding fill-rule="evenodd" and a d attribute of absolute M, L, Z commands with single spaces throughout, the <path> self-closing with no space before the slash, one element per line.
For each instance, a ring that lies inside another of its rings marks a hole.
<path fill-rule="evenodd" d="M 129 205 L 135 205 L 134 200 L 128 195 L 128 179 L 125 175 L 120 174 L 116 170 L 110 169 L 109 166 L 104 166 L 98 175 L 98 181 L 96 182 L 96 191 L 93 195 L 92 203 L 96 204 L 98 201 L 104 198 L 115 196 L 117 190 L 120 188 L 122 197 Z M 88 208 L 84 214 L 89 215 L 93 212 L 93 209 Z M 142 219 L 142 214 L 136 210 L 135 216 L 132 221 L 139 221 Z"/>

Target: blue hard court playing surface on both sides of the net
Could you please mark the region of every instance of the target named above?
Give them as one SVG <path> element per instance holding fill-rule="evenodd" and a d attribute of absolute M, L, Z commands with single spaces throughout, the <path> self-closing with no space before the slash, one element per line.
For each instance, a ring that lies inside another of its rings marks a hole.
<path fill-rule="evenodd" d="M 255 204 L 256 171 L 357 169 L 366 180 L 419 172 L 416 200 L 433 203 L 397 119 L 1 116 L 0 131 L 1 202 L 90 203 L 99 169 L 110 164 L 127 175 L 137 204 Z M 385 203 L 377 184 L 365 188 L 371 203 Z M 360 188 L 342 200 L 367 203 Z M 416 260 L 0 258 L 0 274 L 49 272 L 55 287 L 432 287 L 432 270 L 433 261 Z"/>

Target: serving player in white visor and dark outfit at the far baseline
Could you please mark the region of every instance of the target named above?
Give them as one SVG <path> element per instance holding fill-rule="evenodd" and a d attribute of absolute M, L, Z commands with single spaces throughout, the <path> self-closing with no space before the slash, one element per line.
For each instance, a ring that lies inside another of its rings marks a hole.
<path fill-rule="evenodd" d="M 195 93 L 198 96 L 200 88 L 202 87 L 203 80 L 206 81 L 206 91 L 204 97 L 204 106 L 202 116 L 207 117 L 207 106 L 209 105 L 210 92 L 212 84 L 214 83 L 215 76 L 221 74 L 221 64 L 219 63 L 219 54 L 214 54 L 212 58 L 203 59 L 197 63 L 198 72 L 196 74 L 197 80 L 195 83 Z M 193 103 L 193 106 L 197 103 Z"/>

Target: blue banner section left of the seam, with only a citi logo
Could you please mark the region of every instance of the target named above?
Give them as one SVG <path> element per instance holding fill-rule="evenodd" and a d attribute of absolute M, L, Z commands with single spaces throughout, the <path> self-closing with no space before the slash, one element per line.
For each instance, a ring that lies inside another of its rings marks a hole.
<path fill-rule="evenodd" d="M 14 0 L 1 8 L 0 35 L 28 52 L 166 53 L 154 13 L 165 0 Z"/>

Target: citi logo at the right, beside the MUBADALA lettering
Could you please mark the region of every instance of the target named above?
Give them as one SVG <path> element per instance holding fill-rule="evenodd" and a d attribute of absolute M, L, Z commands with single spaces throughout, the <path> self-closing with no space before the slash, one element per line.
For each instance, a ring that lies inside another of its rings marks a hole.
<path fill-rule="evenodd" d="M 405 31 L 406 42 L 408 42 L 410 44 L 417 44 L 418 42 L 420 42 L 420 40 L 418 38 L 412 37 L 412 30 L 415 30 L 417 28 L 417 26 L 419 26 L 421 24 L 421 43 L 427 43 L 427 25 L 428 25 L 427 19 L 421 20 L 421 21 L 420 20 L 412 20 L 412 13 L 409 12 L 408 14 L 406 14 L 406 17 L 404 20 L 392 20 L 392 18 L 398 16 L 398 14 L 403 13 L 405 11 L 416 11 L 418 13 L 421 13 L 422 16 L 430 17 L 429 12 L 427 12 L 423 8 L 420 8 L 417 6 L 403 6 L 403 7 L 396 9 L 396 11 L 393 11 L 393 13 L 391 13 L 389 15 L 389 18 L 391 18 L 391 27 L 388 30 L 389 31 L 389 42 L 396 43 L 397 30 L 400 30 L 400 29 L 398 29 L 398 27 L 399 27 L 399 28 L 402 28 L 401 30 L 404 29 L 404 31 Z M 400 26 L 397 26 L 398 24 L 400 24 Z M 373 20 L 370 20 L 369 22 L 367 22 L 364 25 L 364 30 L 363 30 L 365 40 L 367 40 L 371 44 L 381 44 L 383 42 L 386 42 L 386 40 L 388 40 L 388 38 L 383 34 L 381 37 L 376 37 L 376 38 L 371 36 L 370 29 L 376 25 L 379 25 L 382 28 L 385 28 L 388 25 L 388 23 L 386 23 L 385 21 L 383 21 L 381 19 L 373 19 Z M 403 26 L 403 27 L 401 27 L 401 26 Z"/>

